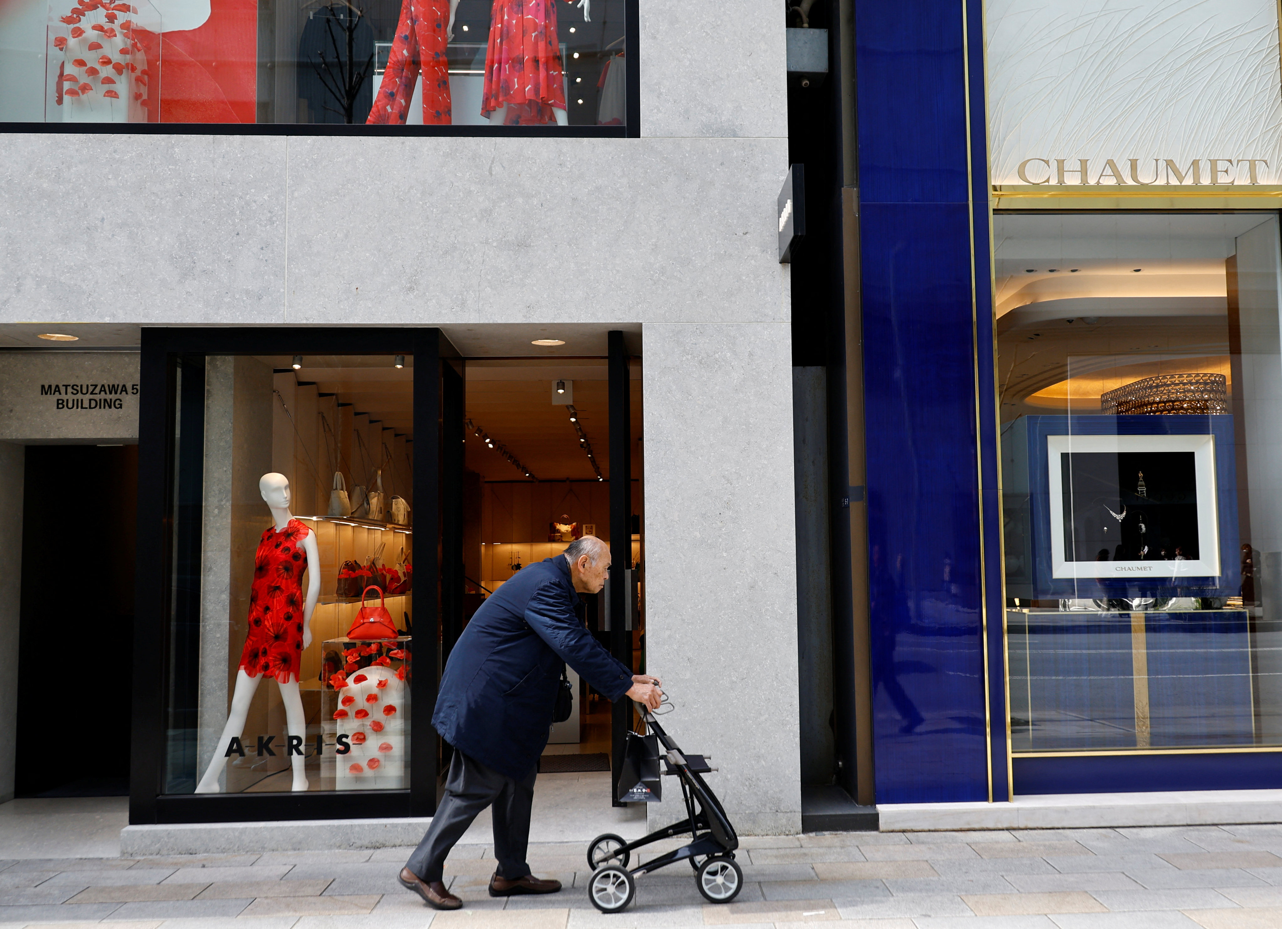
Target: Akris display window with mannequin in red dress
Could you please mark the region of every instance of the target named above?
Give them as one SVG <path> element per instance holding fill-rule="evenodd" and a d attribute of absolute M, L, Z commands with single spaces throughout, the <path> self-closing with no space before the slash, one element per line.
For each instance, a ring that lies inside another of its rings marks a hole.
<path fill-rule="evenodd" d="M 413 358 L 176 379 L 162 792 L 408 789 Z"/>

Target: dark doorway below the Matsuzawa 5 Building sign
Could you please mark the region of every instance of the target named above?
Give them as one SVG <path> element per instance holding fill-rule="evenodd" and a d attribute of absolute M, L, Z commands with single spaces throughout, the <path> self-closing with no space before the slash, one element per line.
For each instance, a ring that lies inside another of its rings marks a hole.
<path fill-rule="evenodd" d="M 18 797 L 128 794 L 137 445 L 28 445 Z"/>

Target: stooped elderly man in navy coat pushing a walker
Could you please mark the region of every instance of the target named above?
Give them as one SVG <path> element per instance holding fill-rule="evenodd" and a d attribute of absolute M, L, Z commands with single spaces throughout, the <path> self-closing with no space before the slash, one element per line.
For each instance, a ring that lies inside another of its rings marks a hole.
<path fill-rule="evenodd" d="M 491 805 L 499 870 L 490 879 L 490 896 L 560 891 L 560 882 L 529 873 L 526 847 L 538 756 L 567 663 L 612 701 L 629 697 L 658 708 L 658 678 L 633 675 L 574 616 L 577 594 L 597 593 L 609 567 L 604 541 L 592 535 L 572 541 L 563 556 L 529 565 L 505 581 L 450 652 L 432 725 L 454 746 L 454 760 L 432 825 L 399 875 L 429 906 L 463 906 L 441 880 L 445 856 Z"/>

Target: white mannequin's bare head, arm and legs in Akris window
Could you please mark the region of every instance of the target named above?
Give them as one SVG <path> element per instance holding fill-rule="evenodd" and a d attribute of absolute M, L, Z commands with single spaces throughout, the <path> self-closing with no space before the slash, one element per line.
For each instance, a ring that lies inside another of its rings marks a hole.
<path fill-rule="evenodd" d="M 290 513 L 290 480 L 285 475 L 263 475 L 258 481 L 259 493 L 263 500 L 272 509 L 272 520 L 276 531 L 282 531 L 290 525 L 294 515 Z M 308 595 L 303 606 L 303 648 L 312 644 L 312 612 L 320 598 L 320 553 L 317 548 L 315 533 L 308 533 L 303 540 L 303 550 L 308 556 Z M 232 738 L 240 738 L 245 731 L 245 719 L 249 716 L 250 703 L 258 690 L 259 678 L 250 678 L 245 669 L 236 672 L 236 689 L 232 693 L 231 711 L 227 713 L 227 725 L 214 748 L 214 757 L 209 761 L 205 776 L 196 785 L 196 793 L 219 793 L 218 778 L 227 766 L 227 746 Z M 299 681 L 279 684 L 281 702 L 285 704 L 285 725 L 290 735 L 306 737 L 306 717 L 303 713 L 303 698 L 299 695 Z M 290 767 L 294 770 L 294 784 L 291 790 L 306 790 L 308 779 L 304 772 L 304 757 L 301 754 L 290 756 Z"/>

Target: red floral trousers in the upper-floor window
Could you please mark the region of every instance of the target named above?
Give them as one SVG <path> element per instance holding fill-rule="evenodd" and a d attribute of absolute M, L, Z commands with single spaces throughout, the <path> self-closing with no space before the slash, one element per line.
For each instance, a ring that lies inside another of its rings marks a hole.
<path fill-rule="evenodd" d="M 445 58 L 445 28 L 449 22 L 449 0 L 404 0 L 387 69 L 367 124 L 404 124 L 414 98 L 414 81 L 420 72 L 423 124 L 450 124 L 450 65 Z"/>

